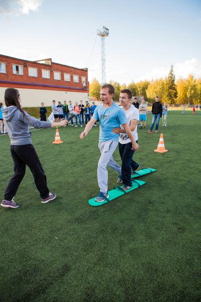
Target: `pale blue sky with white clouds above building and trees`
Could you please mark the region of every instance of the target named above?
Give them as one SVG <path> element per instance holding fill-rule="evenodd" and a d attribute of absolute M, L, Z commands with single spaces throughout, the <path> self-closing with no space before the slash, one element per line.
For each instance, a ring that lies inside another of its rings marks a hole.
<path fill-rule="evenodd" d="M 101 81 L 105 38 L 106 81 L 201 77 L 201 0 L 0 0 L 0 54 L 88 68 Z"/>

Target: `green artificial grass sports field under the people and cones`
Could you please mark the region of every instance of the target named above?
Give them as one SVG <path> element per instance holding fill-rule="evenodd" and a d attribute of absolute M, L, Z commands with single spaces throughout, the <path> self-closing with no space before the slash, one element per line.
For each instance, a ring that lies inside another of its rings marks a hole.
<path fill-rule="evenodd" d="M 199 113 L 199 112 L 198 112 Z M 151 114 L 148 115 L 150 126 Z M 15 196 L 18 209 L 0 208 L 0 300 L 199 301 L 201 115 L 168 114 L 159 133 L 138 130 L 146 185 L 100 207 L 99 128 L 32 130 L 32 142 L 57 198 L 42 204 L 27 169 Z M 160 133 L 169 152 L 154 153 Z M 8 135 L 0 137 L 1 188 L 13 174 Z M 120 164 L 118 150 L 114 159 Z M 109 169 L 109 190 L 117 175 Z"/>

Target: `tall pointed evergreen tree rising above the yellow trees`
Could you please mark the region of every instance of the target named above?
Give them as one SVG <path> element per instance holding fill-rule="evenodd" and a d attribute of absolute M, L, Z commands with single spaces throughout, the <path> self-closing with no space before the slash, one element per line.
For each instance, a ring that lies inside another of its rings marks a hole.
<path fill-rule="evenodd" d="M 165 81 L 164 101 L 166 101 L 170 105 L 173 105 L 176 103 L 176 98 L 177 98 L 177 87 L 175 84 L 173 65 L 171 65 L 168 77 L 166 78 Z"/>

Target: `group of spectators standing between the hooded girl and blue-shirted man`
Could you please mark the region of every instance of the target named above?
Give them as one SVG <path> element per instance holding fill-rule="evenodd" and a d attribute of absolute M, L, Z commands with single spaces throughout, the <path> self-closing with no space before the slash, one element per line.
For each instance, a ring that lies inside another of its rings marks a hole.
<path fill-rule="evenodd" d="M 78 120 L 80 126 L 83 127 L 83 124 L 86 125 L 90 121 L 91 116 L 93 116 L 96 105 L 95 102 L 92 102 L 92 105 L 90 106 L 88 101 L 86 101 L 84 105 L 82 100 L 80 101 L 80 104 L 76 102 L 75 105 L 72 104 L 72 101 L 69 101 L 69 104 L 66 104 L 66 101 L 63 101 L 63 104 L 61 104 L 61 102 L 58 102 L 58 105 L 56 105 L 55 100 L 53 100 L 51 108 L 52 114 L 54 116 L 54 122 L 60 122 L 63 119 L 68 119 L 71 115 L 75 114 L 75 127 L 78 127 Z M 46 113 L 47 110 L 44 107 L 44 103 L 41 103 L 41 121 L 46 121 Z M 71 119 L 71 125 L 74 126 L 73 118 Z M 68 126 L 68 124 L 66 126 Z M 94 126 L 96 126 L 96 123 L 94 124 Z"/>

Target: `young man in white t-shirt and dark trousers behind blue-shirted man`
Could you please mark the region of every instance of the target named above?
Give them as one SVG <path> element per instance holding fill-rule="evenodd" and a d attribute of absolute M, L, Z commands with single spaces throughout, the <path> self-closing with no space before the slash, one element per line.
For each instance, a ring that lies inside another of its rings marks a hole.
<path fill-rule="evenodd" d="M 138 143 L 138 121 L 139 121 L 139 110 L 131 103 L 132 93 L 129 89 L 121 90 L 119 96 L 119 102 L 124 109 L 128 126 L 132 131 L 133 137 L 136 143 Z M 119 133 L 119 154 L 122 160 L 121 165 L 121 176 L 118 177 L 117 183 L 122 183 L 124 186 L 123 190 L 129 190 L 132 186 L 131 182 L 131 168 L 133 171 L 137 171 L 140 165 L 132 160 L 132 156 L 135 150 L 132 148 L 132 143 L 125 133 L 125 130 L 120 125 L 120 128 L 114 128 L 114 133 Z"/>

